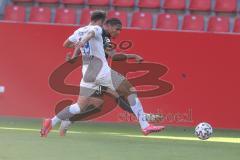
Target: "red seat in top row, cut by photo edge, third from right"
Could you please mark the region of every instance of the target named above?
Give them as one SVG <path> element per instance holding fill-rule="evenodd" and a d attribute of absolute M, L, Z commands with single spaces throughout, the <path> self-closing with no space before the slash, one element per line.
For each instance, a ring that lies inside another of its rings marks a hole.
<path fill-rule="evenodd" d="M 186 8 L 185 0 L 164 0 L 163 8 L 183 10 Z"/>

